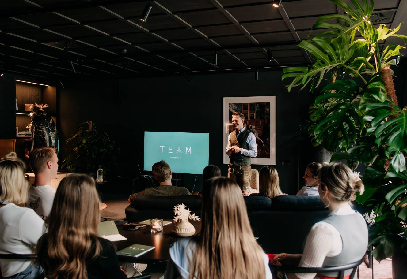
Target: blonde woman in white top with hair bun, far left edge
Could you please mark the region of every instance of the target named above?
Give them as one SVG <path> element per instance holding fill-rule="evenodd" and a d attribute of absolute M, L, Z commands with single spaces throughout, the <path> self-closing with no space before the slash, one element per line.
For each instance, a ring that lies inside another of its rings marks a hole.
<path fill-rule="evenodd" d="M 32 254 L 43 234 L 44 221 L 31 208 L 20 207 L 28 197 L 25 165 L 15 152 L 0 161 L 0 254 Z M 31 260 L 0 261 L 4 279 L 35 279 L 42 268 Z"/>

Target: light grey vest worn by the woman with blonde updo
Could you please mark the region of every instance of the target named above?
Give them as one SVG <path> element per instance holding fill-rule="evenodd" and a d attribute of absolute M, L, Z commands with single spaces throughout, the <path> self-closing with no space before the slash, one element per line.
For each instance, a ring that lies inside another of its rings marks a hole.
<path fill-rule="evenodd" d="M 324 222 L 333 225 L 342 238 L 342 252 L 334 257 L 325 257 L 322 266 L 341 266 L 361 260 L 368 248 L 368 226 L 359 213 L 349 215 L 330 215 Z M 350 275 L 352 269 L 345 271 Z M 337 272 L 321 273 L 328 277 L 338 276 Z"/>

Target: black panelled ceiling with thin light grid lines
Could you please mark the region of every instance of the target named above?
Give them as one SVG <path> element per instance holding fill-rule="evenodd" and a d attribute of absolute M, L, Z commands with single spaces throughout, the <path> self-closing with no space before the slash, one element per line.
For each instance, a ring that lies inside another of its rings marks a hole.
<path fill-rule="evenodd" d="M 7 71 L 47 78 L 262 68 L 276 66 L 264 52 L 271 46 L 280 65 L 296 65 L 307 63 L 298 37 L 307 39 L 320 15 L 337 13 L 329 0 L 283 0 L 279 9 L 270 1 L 218 0 L 225 10 L 211 0 L 159 0 L 142 23 L 148 2 L 98 1 L 9 1 L 0 11 L 0 61 Z M 375 5 L 375 27 L 394 28 L 405 17 L 400 0 Z"/>

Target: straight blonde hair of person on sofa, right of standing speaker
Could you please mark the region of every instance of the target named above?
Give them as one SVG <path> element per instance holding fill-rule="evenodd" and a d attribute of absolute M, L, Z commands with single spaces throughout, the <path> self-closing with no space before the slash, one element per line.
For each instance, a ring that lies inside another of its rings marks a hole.
<path fill-rule="evenodd" d="M 259 171 L 259 189 L 258 195 L 273 199 L 276 196 L 282 196 L 280 189 L 280 180 L 277 170 L 271 166 L 264 166 Z"/>

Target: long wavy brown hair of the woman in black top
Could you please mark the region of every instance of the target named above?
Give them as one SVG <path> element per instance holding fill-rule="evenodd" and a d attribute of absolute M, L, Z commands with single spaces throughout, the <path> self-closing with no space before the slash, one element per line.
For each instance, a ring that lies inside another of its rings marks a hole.
<path fill-rule="evenodd" d="M 63 178 L 55 193 L 48 233 L 37 244 L 38 262 L 49 279 L 87 279 L 86 262 L 101 250 L 97 239 L 99 197 L 89 175 Z"/>

